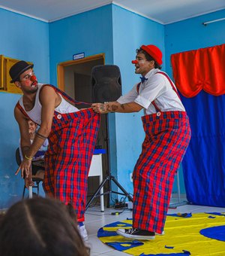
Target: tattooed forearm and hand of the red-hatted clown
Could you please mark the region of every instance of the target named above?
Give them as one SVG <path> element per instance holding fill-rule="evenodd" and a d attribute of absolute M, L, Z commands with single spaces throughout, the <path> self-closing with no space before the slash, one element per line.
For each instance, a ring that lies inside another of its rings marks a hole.
<path fill-rule="evenodd" d="M 92 108 L 95 112 L 106 114 L 110 112 L 132 113 L 139 112 L 143 107 L 136 102 L 120 104 L 118 102 L 94 103 Z"/>

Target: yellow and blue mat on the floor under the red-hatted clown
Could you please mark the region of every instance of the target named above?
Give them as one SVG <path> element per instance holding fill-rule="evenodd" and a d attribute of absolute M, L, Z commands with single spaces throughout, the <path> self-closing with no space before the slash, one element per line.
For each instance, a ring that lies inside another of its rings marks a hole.
<path fill-rule="evenodd" d="M 225 213 L 167 215 L 164 235 L 154 240 L 129 240 L 118 236 L 118 228 L 132 227 L 132 219 L 107 224 L 98 230 L 101 242 L 131 255 L 225 256 Z"/>

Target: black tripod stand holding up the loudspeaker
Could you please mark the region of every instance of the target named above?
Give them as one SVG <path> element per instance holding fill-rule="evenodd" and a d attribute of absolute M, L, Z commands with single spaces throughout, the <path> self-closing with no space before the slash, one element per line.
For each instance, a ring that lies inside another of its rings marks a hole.
<path fill-rule="evenodd" d="M 130 197 L 130 194 L 127 193 L 126 190 L 124 190 L 124 188 L 121 186 L 121 184 L 118 183 L 118 181 L 115 179 L 115 177 L 113 175 L 111 175 L 111 170 L 110 170 L 110 139 L 109 139 L 109 121 L 108 121 L 108 114 L 107 118 L 106 118 L 106 122 L 107 122 L 107 149 L 108 149 L 108 173 L 107 173 L 107 177 L 104 178 L 104 180 L 101 182 L 101 184 L 99 185 L 98 189 L 95 191 L 95 193 L 92 195 L 92 197 L 90 198 L 89 202 L 86 204 L 86 210 L 89 208 L 90 204 L 92 203 L 92 201 L 96 198 L 96 197 L 100 197 L 102 195 L 107 195 L 107 194 L 119 194 L 122 196 L 127 197 L 131 202 L 133 202 L 133 197 Z M 104 184 L 106 184 L 108 181 L 109 183 L 109 190 L 100 194 L 100 190 L 102 187 L 104 187 Z M 114 191 L 112 190 L 112 181 L 115 183 L 115 185 L 122 191 L 118 192 L 118 191 Z"/>

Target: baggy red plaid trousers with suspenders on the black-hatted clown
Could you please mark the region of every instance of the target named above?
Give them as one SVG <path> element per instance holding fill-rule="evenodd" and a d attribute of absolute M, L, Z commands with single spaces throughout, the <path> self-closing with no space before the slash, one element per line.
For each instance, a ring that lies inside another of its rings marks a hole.
<path fill-rule="evenodd" d="M 70 102 L 79 103 L 53 88 Z M 77 211 L 78 221 L 84 221 L 89 168 L 99 124 L 100 114 L 92 108 L 69 114 L 55 111 L 48 136 L 43 189 L 48 196 L 65 204 L 71 203 Z"/>

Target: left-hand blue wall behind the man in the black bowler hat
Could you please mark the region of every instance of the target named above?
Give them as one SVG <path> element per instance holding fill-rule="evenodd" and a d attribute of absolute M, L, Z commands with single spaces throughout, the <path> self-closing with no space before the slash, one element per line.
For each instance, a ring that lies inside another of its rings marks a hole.
<path fill-rule="evenodd" d="M 34 62 L 37 78 L 49 82 L 49 25 L 0 8 L 0 54 Z M 0 93 L 0 209 L 21 199 L 23 180 L 15 176 L 19 128 L 13 109 L 19 94 Z"/>

